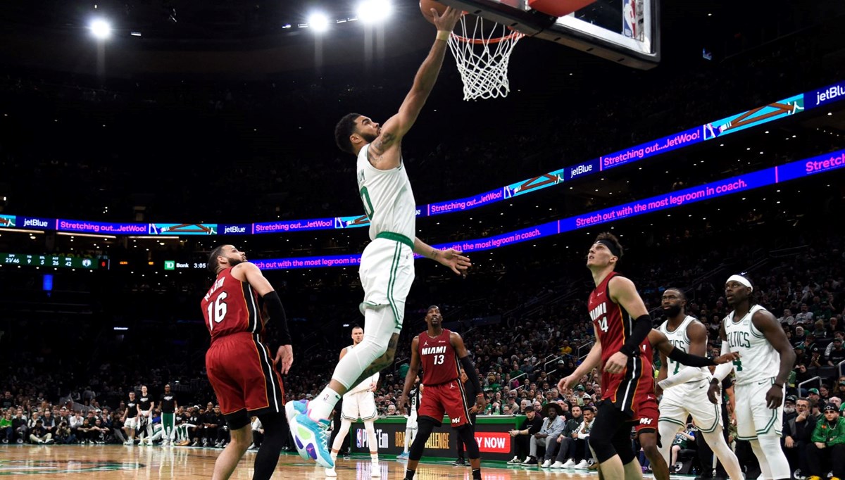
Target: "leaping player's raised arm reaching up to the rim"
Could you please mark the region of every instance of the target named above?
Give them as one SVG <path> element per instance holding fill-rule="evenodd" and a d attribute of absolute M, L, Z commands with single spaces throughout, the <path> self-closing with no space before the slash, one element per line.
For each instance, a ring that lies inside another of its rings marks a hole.
<path fill-rule="evenodd" d="M 408 133 L 420 111 L 423 110 L 423 105 L 428 100 L 428 95 L 434 88 L 434 83 L 437 81 L 440 68 L 443 66 L 443 57 L 446 54 L 447 42 L 452 29 L 458 19 L 461 18 L 461 10 L 453 8 L 446 8 L 446 11 L 439 15 L 432 9 L 434 18 L 434 25 L 437 26 L 437 39 L 428 52 L 428 57 L 423 60 L 423 64 L 417 70 L 417 75 L 414 77 L 414 85 L 411 91 L 402 101 L 399 107 L 399 112 L 393 117 L 390 117 L 387 122 L 381 127 L 381 133 L 373 140 L 373 145 L 370 145 L 368 154 L 371 156 L 373 163 L 379 164 L 380 170 L 388 170 L 399 166 L 401 155 L 399 155 L 399 145 L 402 137 Z M 395 151 L 395 155 L 390 152 Z M 384 155 L 390 153 L 390 155 Z"/>

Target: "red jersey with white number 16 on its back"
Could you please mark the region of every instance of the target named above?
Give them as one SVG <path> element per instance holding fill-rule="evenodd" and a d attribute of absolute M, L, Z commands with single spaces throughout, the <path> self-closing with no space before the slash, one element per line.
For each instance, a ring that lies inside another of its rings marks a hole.
<path fill-rule="evenodd" d="M 217 280 L 200 304 L 211 343 L 221 336 L 237 332 L 264 333 L 258 294 L 248 282 L 232 277 L 231 268 L 217 275 Z"/>

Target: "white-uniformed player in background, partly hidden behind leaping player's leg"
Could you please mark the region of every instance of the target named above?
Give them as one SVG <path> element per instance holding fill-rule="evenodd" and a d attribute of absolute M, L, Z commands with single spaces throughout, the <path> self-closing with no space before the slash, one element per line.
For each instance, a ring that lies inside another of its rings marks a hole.
<path fill-rule="evenodd" d="M 352 349 L 361 345 L 364 339 L 364 329 L 359 326 L 352 327 L 352 345 L 346 346 L 341 350 L 341 359 L 347 353 L 352 352 Z M 339 428 L 334 443 L 331 445 L 331 460 L 337 460 L 337 454 L 341 450 L 341 445 L 346 439 L 346 434 L 349 434 L 349 428 L 352 427 L 352 422 L 358 418 L 364 423 L 364 430 L 367 431 L 367 445 L 370 449 L 370 475 L 373 478 L 381 476 L 379 469 L 379 442 L 375 438 L 375 419 L 379 417 L 379 411 L 375 407 L 375 394 L 373 391 L 379 383 L 379 373 L 376 372 L 372 377 L 366 381 L 361 382 L 352 390 L 347 391 L 343 395 L 341 402 L 341 428 Z M 326 469 L 326 477 L 337 477 L 337 472 L 334 468 Z"/>

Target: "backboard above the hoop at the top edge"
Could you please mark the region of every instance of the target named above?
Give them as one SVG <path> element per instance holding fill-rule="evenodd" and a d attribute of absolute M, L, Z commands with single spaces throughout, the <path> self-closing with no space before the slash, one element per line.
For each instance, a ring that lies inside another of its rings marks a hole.
<path fill-rule="evenodd" d="M 528 0 L 440 1 L 631 68 L 648 69 L 660 62 L 659 0 L 596 0 L 560 17 L 531 8 Z"/>

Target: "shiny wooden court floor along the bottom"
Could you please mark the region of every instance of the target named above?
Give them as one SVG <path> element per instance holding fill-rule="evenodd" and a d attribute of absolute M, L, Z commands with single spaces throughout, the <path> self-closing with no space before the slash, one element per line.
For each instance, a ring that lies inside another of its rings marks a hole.
<path fill-rule="evenodd" d="M 63 478 L 66 480 L 140 480 L 178 479 L 195 480 L 211 477 L 219 449 L 188 447 L 138 447 L 123 445 L 2 445 L 0 446 L 0 476 L 14 475 L 25 478 Z M 232 475 L 233 479 L 249 480 L 253 476 L 255 453 L 249 451 Z M 383 480 L 401 480 L 405 463 L 384 460 L 381 466 Z M 370 477 L 369 459 L 339 460 L 335 466 L 337 480 Z M 501 463 L 482 464 L 484 480 L 517 480 L 539 478 L 566 478 L 586 480 L 597 475 L 564 470 L 541 471 L 536 466 L 505 467 Z M 313 462 L 302 461 L 297 455 L 281 455 L 273 478 L 286 480 L 323 480 L 324 470 Z M 466 466 L 446 463 L 421 463 L 417 468 L 418 480 L 472 480 Z"/>

